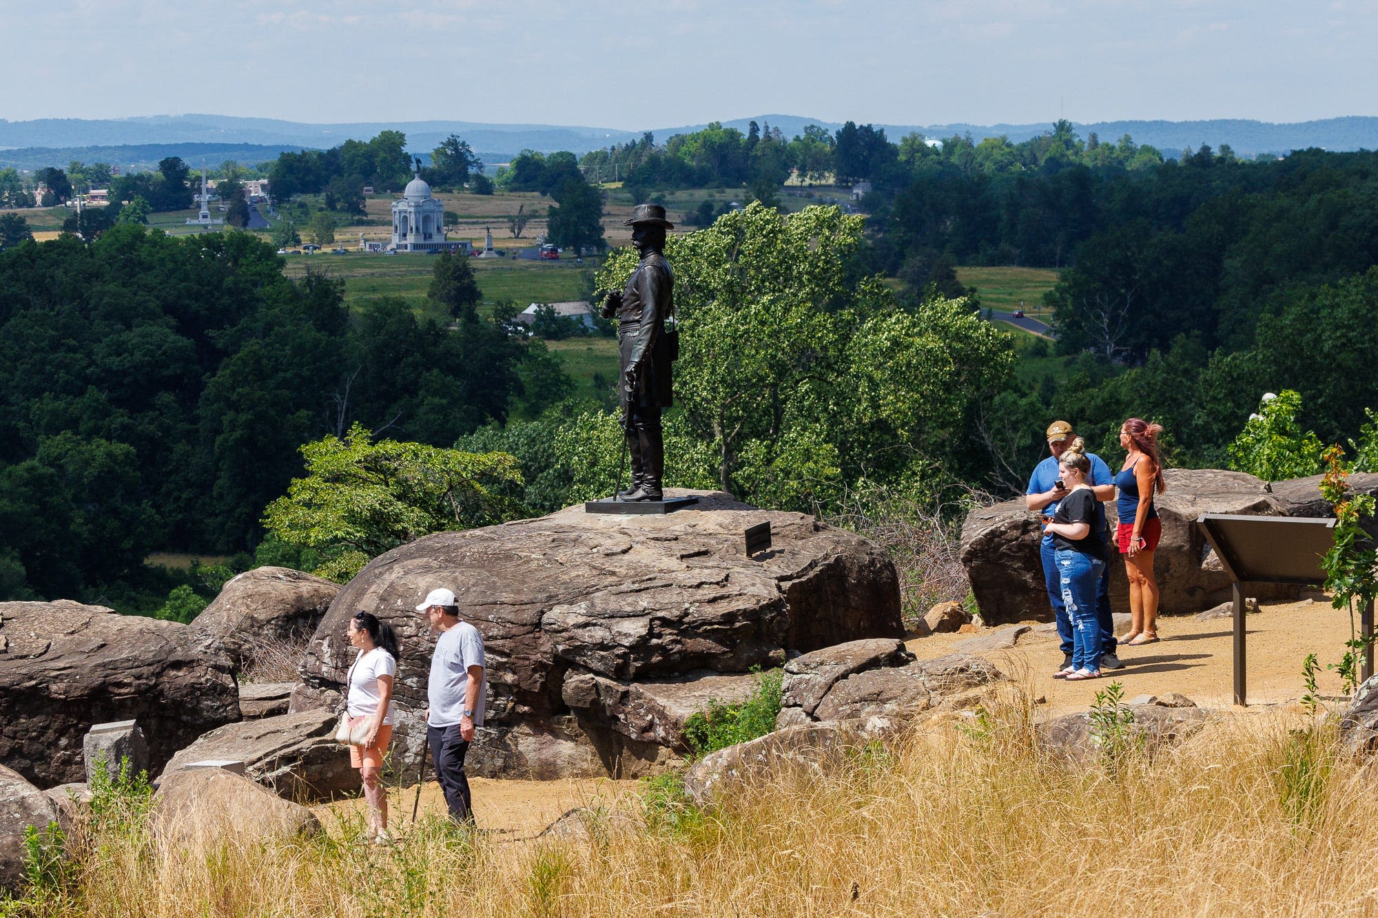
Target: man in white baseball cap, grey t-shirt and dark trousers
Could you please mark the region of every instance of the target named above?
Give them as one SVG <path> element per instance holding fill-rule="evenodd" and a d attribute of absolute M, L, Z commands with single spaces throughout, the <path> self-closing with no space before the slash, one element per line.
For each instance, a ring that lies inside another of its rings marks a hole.
<path fill-rule="evenodd" d="M 451 819 L 471 826 L 474 809 L 464 775 L 464 755 L 474 740 L 474 728 L 484 725 L 488 695 L 484 637 L 473 624 L 459 620 L 459 602 L 452 590 L 431 590 L 416 611 L 440 634 L 427 684 L 426 743 Z"/>

